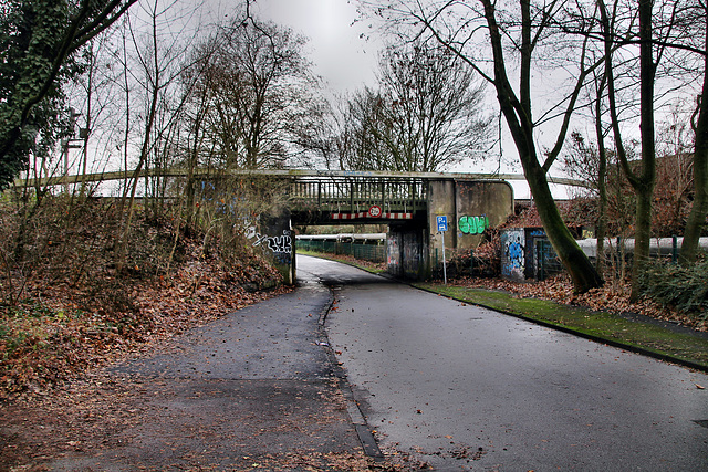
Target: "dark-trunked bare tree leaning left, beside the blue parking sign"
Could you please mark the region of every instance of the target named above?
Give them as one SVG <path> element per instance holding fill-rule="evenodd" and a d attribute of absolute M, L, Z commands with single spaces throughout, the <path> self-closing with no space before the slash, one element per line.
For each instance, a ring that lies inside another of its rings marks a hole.
<path fill-rule="evenodd" d="M 551 34 L 554 22 L 564 14 L 563 2 L 535 4 L 530 0 L 520 0 L 518 3 L 504 3 L 508 8 L 499 11 L 498 3 L 492 0 L 434 2 L 430 8 L 421 2 L 412 4 L 405 1 L 386 2 L 388 8 L 378 8 L 381 2 L 363 3 L 374 6 L 374 12 L 388 22 L 407 22 L 418 35 L 435 38 L 494 86 L 539 216 L 549 240 L 573 280 L 575 291 L 585 292 L 602 285 L 602 276 L 563 222 L 548 180 L 548 172 L 565 140 L 583 84 L 600 65 L 597 62 L 587 63 L 587 40 L 576 41 Z M 543 48 L 553 49 L 553 55 L 542 56 L 552 66 L 559 65 L 552 57 L 568 59 L 563 65 L 573 67 L 571 75 L 575 80 L 566 95 L 555 101 L 554 106 L 540 118 L 534 118 L 531 77 L 534 65 L 539 73 L 543 70 L 537 62 Z M 561 50 L 568 52 L 561 55 Z M 512 67 L 510 56 L 518 60 L 513 65 L 519 72 L 516 86 L 508 72 Z M 558 137 L 553 148 L 542 159 L 534 130 L 550 119 L 558 122 Z"/>

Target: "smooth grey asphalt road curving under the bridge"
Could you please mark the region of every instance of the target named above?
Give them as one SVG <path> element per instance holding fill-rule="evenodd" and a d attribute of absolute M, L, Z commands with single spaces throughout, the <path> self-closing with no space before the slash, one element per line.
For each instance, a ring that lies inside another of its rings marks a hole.
<path fill-rule="evenodd" d="M 708 470 L 708 376 L 299 256 L 384 451 L 437 470 Z"/>

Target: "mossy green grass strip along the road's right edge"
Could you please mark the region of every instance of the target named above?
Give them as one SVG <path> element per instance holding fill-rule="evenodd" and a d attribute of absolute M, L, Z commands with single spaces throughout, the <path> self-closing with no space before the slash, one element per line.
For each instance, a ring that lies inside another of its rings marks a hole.
<path fill-rule="evenodd" d="M 708 371 L 708 339 L 700 336 L 677 333 L 668 327 L 628 319 L 614 313 L 593 312 L 548 300 L 518 298 L 504 292 L 434 283 L 413 285 L 464 303 L 485 306 L 586 338 Z"/>

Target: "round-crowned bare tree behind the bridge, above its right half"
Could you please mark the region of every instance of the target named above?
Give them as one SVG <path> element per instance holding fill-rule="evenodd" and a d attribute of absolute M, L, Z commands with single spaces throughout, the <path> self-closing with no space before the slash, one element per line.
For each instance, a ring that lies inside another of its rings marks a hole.
<path fill-rule="evenodd" d="M 358 168 L 439 171 L 487 147 L 483 84 L 473 71 L 437 43 L 389 46 L 379 63 L 379 92 L 355 97 L 351 112 L 360 133 L 383 153 Z M 362 156 L 363 157 L 363 156 Z"/>

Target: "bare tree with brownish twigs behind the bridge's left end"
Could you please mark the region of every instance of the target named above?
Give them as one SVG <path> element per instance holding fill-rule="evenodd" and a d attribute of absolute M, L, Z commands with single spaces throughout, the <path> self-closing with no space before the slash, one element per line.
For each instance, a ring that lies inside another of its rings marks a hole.
<path fill-rule="evenodd" d="M 282 167 L 314 81 L 305 40 L 271 22 L 237 18 L 208 41 L 201 86 L 215 97 L 206 126 L 226 167 Z"/>

